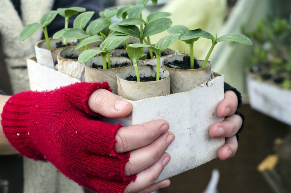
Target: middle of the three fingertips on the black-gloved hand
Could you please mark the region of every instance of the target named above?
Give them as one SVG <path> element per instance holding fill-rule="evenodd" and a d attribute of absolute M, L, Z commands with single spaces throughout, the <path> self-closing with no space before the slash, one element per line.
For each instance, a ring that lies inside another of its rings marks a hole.
<path fill-rule="evenodd" d="M 231 115 L 222 122 L 214 123 L 210 126 L 209 135 L 215 137 L 232 137 L 242 127 L 242 117 Z"/>

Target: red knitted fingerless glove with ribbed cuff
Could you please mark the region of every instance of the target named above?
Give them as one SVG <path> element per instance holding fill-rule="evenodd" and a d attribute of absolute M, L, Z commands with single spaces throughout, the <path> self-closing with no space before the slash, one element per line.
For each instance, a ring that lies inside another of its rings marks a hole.
<path fill-rule="evenodd" d="M 107 83 L 76 83 L 50 92 L 13 95 L 2 113 L 6 138 L 21 155 L 48 160 L 70 179 L 95 192 L 124 192 L 136 176 L 125 176 L 129 152 L 115 151 L 120 124 L 88 107 L 88 99 Z M 110 90 L 111 91 L 111 90 Z"/>

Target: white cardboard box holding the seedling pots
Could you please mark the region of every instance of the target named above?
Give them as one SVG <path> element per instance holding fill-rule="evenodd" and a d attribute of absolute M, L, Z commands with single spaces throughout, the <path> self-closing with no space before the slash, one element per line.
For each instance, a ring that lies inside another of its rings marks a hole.
<path fill-rule="evenodd" d="M 35 58 L 28 59 L 27 66 L 31 90 L 53 90 L 80 81 L 38 64 Z M 224 97 L 224 76 L 220 73 L 213 75 L 211 80 L 187 92 L 130 101 L 133 105 L 130 115 L 119 119 L 104 119 L 123 126 L 155 119 L 169 122 L 169 131 L 175 134 L 175 141 L 166 151 L 171 155 L 171 161 L 158 181 L 209 162 L 217 157 L 218 149 L 224 144 L 224 138 L 212 139 L 209 136 L 209 127 L 223 120 L 217 117 L 216 108 Z"/>

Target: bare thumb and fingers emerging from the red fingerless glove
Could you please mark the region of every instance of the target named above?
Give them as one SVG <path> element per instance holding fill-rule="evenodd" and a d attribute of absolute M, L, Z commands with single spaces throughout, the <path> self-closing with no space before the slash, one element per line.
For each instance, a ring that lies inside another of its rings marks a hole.
<path fill-rule="evenodd" d="M 109 118 L 125 117 L 132 111 L 131 103 L 104 89 L 93 92 L 88 105 L 93 112 Z M 130 151 L 125 175 L 137 175 L 135 182 L 131 182 L 125 192 L 153 192 L 170 185 L 169 179 L 155 183 L 171 159 L 165 151 L 175 136 L 168 129 L 168 122 L 154 120 L 141 125 L 121 127 L 118 130 L 116 152 Z"/>

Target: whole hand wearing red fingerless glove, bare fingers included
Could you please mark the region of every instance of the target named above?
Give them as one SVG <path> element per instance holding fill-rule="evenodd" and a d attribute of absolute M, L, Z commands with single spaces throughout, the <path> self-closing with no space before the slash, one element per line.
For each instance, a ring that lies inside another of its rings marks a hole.
<path fill-rule="evenodd" d="M 106 89 L 106 90 L 105 90 Z M 3 108 L 3 133 L 23 156 L 47 160 L 94 192 L 152 192 L 170 161 L 174 135 L 164 120 L 122 127 L 93 118 L 124 117 L 132 104 L 107 83 L 75 83 L 48 92 L 21 92 Z M 1 102 L 0 102 L 1 103 Z M 91 116 L 90 116 L 91 115 Z"/>

